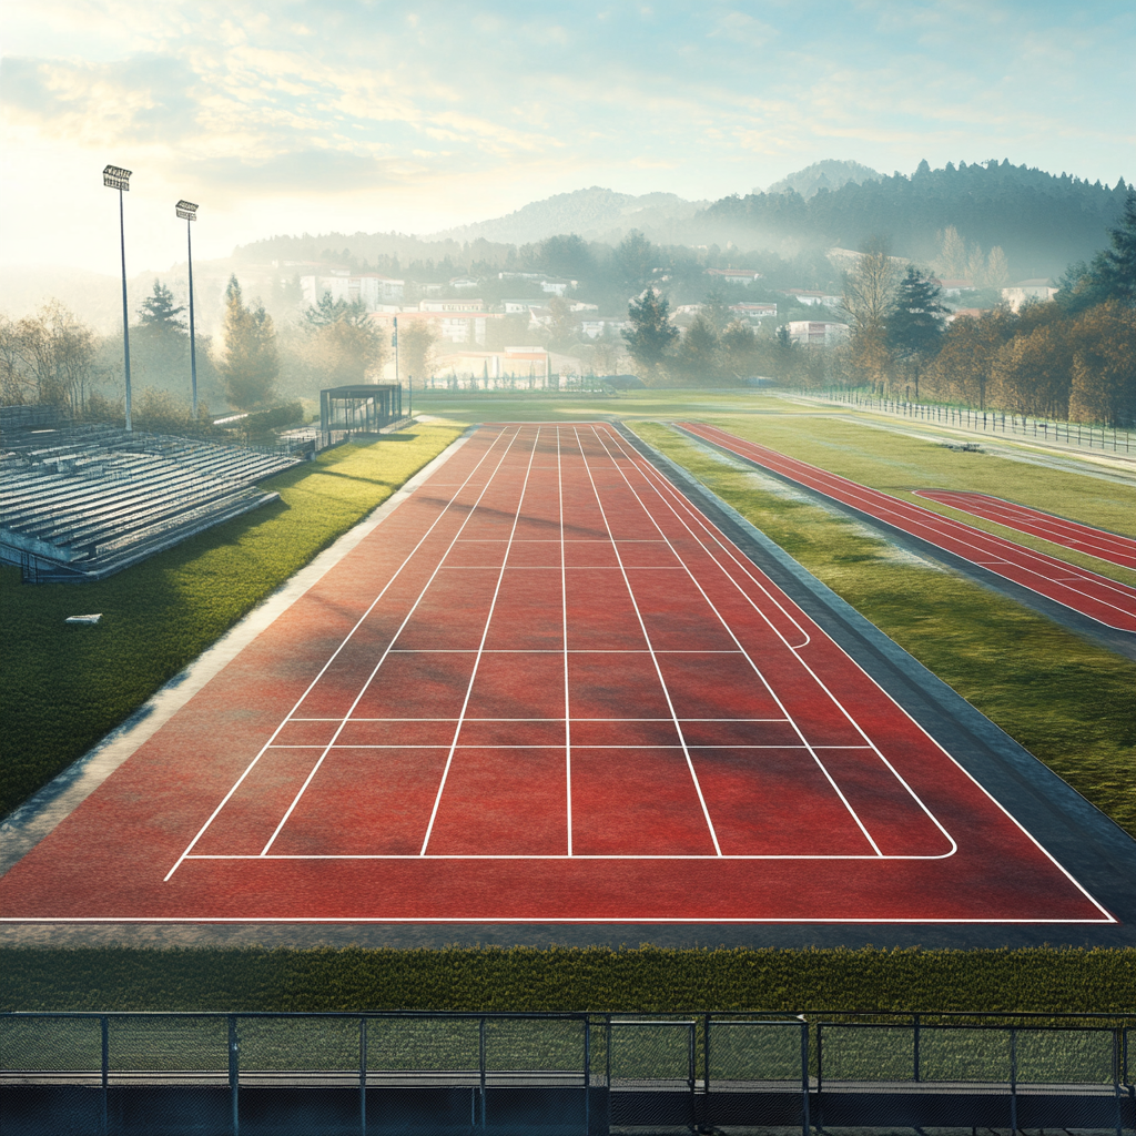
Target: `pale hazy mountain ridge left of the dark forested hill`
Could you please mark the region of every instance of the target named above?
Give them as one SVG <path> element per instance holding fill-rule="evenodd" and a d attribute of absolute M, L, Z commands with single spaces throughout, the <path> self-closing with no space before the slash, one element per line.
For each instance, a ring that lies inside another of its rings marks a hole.
<path fill-rule="evenodd" d="M 654 240 L 666 240 L 676 224 L 686 222 L 707 201 L 685 201 L 674 193 L 633 197 L 593 185 L 534 201 L 506 217 L 462 225 L 423 236 L 424 241 L 491 241 L 531 244 L 559 233 L 575 233 L 587 240 L 619 241 L 637 228 Z"/>

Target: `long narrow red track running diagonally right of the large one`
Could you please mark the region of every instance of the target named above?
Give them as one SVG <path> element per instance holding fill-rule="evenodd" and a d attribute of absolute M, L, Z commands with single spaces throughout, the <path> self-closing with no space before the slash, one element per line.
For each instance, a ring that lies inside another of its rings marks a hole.
<path fill-rule="evenodd" d="M 852 506 L 869 517 L 886 521 L 929 544 L 980 565 L 996 576 L 1003 576 L 1039 595 L 1056 600 L 1108 627 L 1136 632 L 1136 587 L 1118 584 L 1067 560 L 1035 552 L 921 506 L 910 504 L 817 466 L 788 458 L 776 450 L 746 442 L 717 426 L 702 423 L 677 425 L 724 450 L 824 493 L 834 501 Z"/>

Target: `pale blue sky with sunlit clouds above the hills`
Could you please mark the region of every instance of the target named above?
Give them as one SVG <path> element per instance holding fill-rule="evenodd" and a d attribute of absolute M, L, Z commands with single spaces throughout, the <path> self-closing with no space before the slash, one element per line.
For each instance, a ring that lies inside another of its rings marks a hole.
<path fill-rule="evenodd" d="M 6 0 L 0 264 L 130 272 L 824 158 L 1136 176 L 1129 0 Z"/>

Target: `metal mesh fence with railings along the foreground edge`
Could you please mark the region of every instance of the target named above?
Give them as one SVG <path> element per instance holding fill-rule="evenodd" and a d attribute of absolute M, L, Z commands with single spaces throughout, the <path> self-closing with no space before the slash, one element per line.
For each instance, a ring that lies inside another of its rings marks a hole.
<path fill-rule="evenodd" d="M 1136 1016 L 10 1013 L 6 1136 L 1136 1130 Z"/>

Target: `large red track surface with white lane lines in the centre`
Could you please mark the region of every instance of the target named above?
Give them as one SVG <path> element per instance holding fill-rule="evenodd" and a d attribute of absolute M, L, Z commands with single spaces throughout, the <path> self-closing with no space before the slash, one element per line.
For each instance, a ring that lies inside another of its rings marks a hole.
<path fill-rule="evenodd" d="M 607 425 L 481 429 L 7 919 L 1112 921 Z"/>

